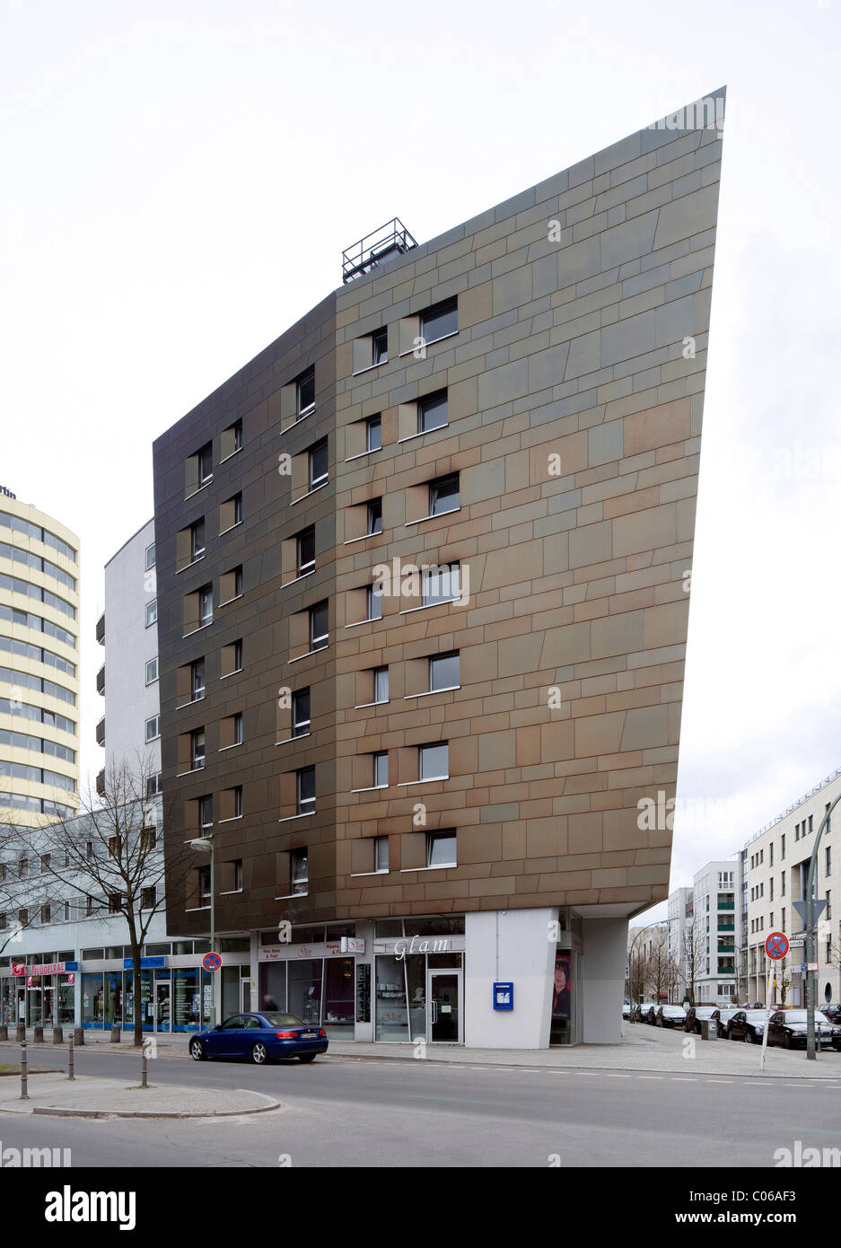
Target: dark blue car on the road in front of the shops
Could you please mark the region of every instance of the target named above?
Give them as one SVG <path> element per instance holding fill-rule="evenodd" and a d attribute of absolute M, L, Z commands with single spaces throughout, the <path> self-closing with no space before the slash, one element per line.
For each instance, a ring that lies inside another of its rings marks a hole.
<path fill-rule="evenodd" d="M 190 1041 L 190 1056 L 196 1062 L 208 1057 L 243 1057 L 255 1066 L 282 1057 L 314 1062 L 327 1052 L 327 1032 L 297 1015 L 232 1015 L 216 1027 L 200 1031 Z"/>

